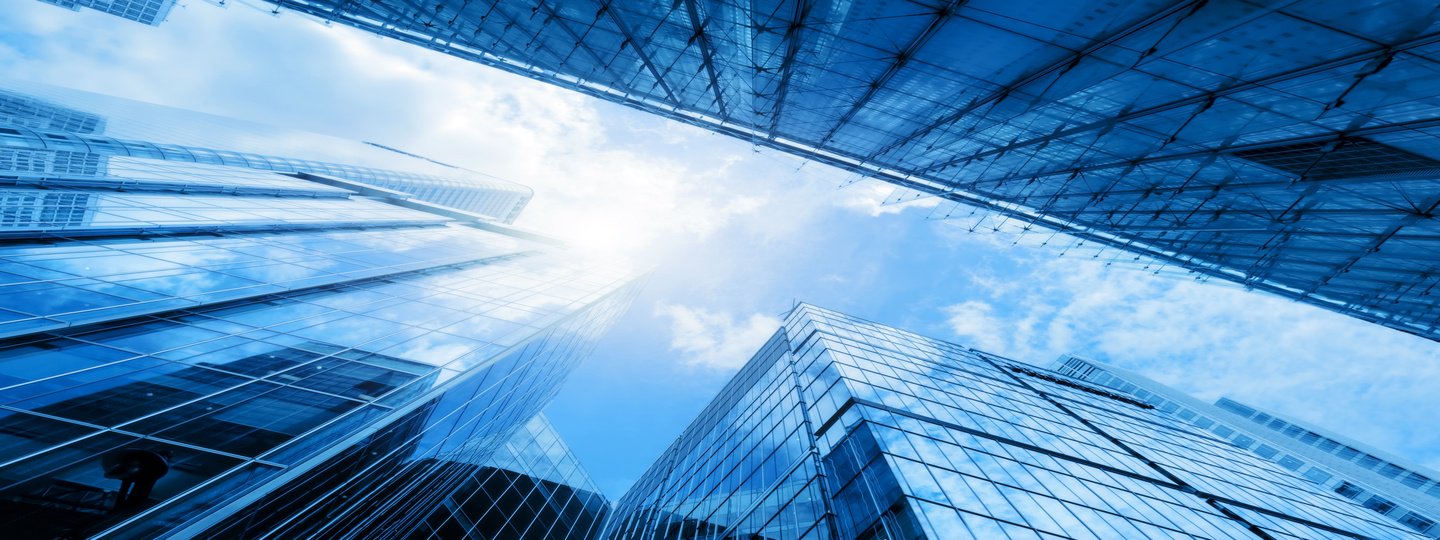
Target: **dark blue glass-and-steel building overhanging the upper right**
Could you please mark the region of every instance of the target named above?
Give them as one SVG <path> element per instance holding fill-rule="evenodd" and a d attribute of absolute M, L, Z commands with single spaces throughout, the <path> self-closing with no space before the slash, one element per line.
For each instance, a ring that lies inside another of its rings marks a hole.
<path fill-rule="evenodd" d="M 271 1 L 1440 338 L 1433 1 Z"/>

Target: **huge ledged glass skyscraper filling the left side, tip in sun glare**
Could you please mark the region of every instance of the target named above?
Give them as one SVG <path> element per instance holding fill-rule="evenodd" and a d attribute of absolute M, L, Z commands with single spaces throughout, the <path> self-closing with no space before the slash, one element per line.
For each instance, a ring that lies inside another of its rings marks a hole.
<path fill-rule="evenodd" d="M 500 478 L 534 487 L 523 510 L 560 504 L 544 516 L 573 526 L 550 537 L 589 536 L 603 514 L 593 487 L 533 419 L 624 310 L 634 274 L 504 225 L 528 190 L 425 192 L 431 176 L 402 171 L 446 166 L 9 86 L 7 537 L 420 534 L 446 501 L 465 508 Z M 220 150 L 245 140 L 399 167 Z M 491 192 L 510 199 L 490 215 L 423 200 Z M 503 459 L 521 446 L 524 459 Z"/>

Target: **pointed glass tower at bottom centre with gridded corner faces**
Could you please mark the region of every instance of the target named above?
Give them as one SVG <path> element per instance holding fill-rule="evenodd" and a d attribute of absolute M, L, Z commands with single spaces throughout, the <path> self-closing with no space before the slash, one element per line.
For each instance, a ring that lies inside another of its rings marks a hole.
<path fill-rule="evenodd" d="M 799 305 L 611 539 L 1424 539 L 1107 387 Z"/>

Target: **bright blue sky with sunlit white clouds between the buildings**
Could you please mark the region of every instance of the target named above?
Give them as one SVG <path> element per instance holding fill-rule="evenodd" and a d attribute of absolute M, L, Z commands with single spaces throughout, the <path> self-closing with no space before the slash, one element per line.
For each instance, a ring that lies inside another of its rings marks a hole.
<path fill-rule="evenodd" d="M 1440 468 L 1431 341 L 971 233 L 933 200 L 881 204 L 886 184 L 292 13 L 192 0 L 148 27 L 10 0 L 0 22 L 4 76 L 458 163 L 536 189 L 518 225 L 652 264 L 549 409 L 611 497 L 793 301 L 1032 363 L 1077 353 Z"/>

